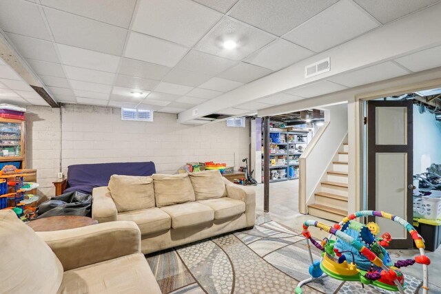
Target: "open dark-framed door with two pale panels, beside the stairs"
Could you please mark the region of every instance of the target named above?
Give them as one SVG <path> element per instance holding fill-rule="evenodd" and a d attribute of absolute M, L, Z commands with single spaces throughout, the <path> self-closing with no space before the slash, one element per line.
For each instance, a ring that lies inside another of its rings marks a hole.
<path fill-rule="evenodd" d="M 413 221 L 412 101 L 368 102 L 367 207 Z M 376 218 L 380 233 L 389 232 L 392 248 L 411 248 L 404 227 Z"/>

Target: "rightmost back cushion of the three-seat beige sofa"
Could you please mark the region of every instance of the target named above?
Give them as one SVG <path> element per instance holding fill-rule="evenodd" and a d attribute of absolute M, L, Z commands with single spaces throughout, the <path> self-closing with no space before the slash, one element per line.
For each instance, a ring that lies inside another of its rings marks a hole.
<path fill-rule="evenodd" d="M 200 171 L 189 174 L 196 200 L 220 198 L 227 196 L 227 189 L 220 171 Z"/>

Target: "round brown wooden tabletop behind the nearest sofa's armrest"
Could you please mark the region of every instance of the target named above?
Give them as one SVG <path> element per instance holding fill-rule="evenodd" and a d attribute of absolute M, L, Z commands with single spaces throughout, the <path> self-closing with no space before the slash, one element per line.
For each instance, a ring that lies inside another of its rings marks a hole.
<path fill-rule="evenodd" d="M 27 222 L 28 226 L 36 232 L 59 231 L 98 224 L 98 220 L 87 216 L 49 216 Z"/>

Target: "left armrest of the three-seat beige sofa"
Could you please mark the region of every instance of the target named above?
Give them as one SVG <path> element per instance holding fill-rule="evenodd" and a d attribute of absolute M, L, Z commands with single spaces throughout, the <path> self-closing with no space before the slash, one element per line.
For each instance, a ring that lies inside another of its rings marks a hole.
<path fill-rule="evenodd" d="M 107 187 L 94 188 L 92 191 L 92 218 L 98 222 L 117 220 L 118 211 Z"/>

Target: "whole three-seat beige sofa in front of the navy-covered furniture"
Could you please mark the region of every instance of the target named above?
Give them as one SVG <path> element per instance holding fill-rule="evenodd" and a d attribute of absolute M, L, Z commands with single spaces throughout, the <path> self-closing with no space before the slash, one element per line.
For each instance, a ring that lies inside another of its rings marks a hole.
<path fill-rule="evenodd" d="M 145 254 L 253 227 L 256 219 L 254 189 L 229 182 L 219 171 L 114 175 L 92 196 L 95 220 L 138 224 Z"/>

